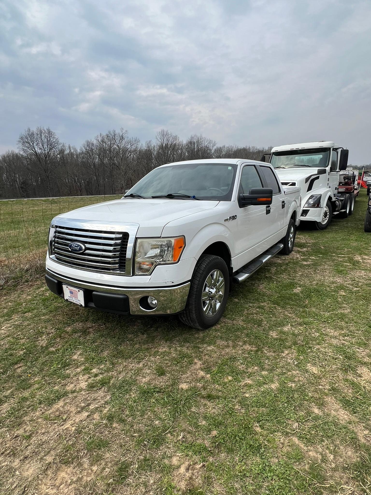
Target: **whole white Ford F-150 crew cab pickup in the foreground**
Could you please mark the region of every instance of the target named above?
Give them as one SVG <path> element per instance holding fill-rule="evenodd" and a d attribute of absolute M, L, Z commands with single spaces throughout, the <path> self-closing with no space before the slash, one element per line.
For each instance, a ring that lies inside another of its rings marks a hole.
<path fill-rule="evenodd" d="M 169 163 L 123 198 L 56 216 L 46 284 L 82 306 L 124 315 L 179 314 L 197 329 L 222 316 L 232 282 L 289 254 L 300 188 L 244 159 Z"/>

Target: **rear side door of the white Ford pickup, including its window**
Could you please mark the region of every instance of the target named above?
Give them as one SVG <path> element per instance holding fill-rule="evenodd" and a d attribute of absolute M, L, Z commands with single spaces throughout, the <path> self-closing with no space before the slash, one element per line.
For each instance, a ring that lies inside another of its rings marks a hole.
<path fill-rule="evenodd" d="M 273 168 L 269 165 L 259 165 L 261 176 L 264 182 L 264 187 L 269 187 L 273 190 L 273 201 L 271 208 L 267 207 L 269 222 L 267 225 L 267 237 L 275 236 L 281 233 L 286 227 L 285 216 L 288 208 L 288 201 L 284 199 L 284 193 L 281 191 L 281 185 L 276 177 Z M 278 239 L 279 240 L 279 239 Z M 275 242 L 277 239 L 275 237 Z"/>

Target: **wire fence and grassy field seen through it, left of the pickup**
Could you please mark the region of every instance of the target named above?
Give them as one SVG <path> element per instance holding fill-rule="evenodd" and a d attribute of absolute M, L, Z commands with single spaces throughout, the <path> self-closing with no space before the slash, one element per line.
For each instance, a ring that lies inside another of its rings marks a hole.
<path fill-rule="evenodd" d="M 0 285 L 20 273 L 43 269 L 52 218 L 120 196 L 0 201 Z"/>

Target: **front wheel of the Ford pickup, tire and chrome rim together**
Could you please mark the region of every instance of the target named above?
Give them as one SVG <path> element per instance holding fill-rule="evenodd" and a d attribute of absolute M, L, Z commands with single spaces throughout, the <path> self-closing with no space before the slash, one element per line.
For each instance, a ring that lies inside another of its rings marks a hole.
<path fill-rule="evenodd" d="M 224 259 L 203 254 L 190 282 L 188 299 L 180 320 L 188 327 L 206 330 L 215 325 L 226 308 L 230 275 Z"/>

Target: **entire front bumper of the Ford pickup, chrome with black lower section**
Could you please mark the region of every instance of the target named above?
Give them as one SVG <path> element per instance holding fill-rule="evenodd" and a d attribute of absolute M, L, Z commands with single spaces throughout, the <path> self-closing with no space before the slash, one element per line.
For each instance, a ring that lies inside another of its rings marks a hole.
<path fill-rule="evenodd" d="M 91 284 L 65 277 L 46 269 L 46 285 L 51 292 L 63 297 L 62 283 L 84 291 L 85 306 L 124 315 L 167 315 L 183 311 L 187 301 L 190 282 L 176 287 L 125 288 Z M 148 296 L 158 305 L 150 308 L 145 304 Z"/>

